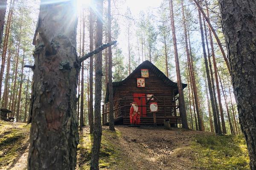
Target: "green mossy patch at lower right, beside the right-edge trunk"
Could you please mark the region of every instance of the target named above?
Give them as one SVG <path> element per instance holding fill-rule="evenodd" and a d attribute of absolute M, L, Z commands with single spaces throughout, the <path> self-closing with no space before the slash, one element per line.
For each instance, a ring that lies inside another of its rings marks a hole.
<path fill-rule="evenodd" d="M 197 167 L 207 170 L 250 170 L 243 136 L 196 136 L 191 149 Z M 198 169 L 199 169 L 198 168 Z"/>

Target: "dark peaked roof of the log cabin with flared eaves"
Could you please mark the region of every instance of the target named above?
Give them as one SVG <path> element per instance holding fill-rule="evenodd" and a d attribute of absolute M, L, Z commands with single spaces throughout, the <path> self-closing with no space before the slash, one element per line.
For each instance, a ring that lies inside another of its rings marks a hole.
<path fill-rule="evenodd" d="M 157 77 L 159 77 L 160 79 L 163 80 L 163 82 L 166 85 L 169 85 L 170 87 L 173 88 L 178 88 L 177 82 L 173 82 L 172 80 L 170 80 L 168 77 L 166 77 L 166 75 L 160 71 L 152 62 L 145 60 L 144 62 L 142 62 L 137 68 L 134 69 L 134 71 L 125 79 L 123 79 L 120 82 L 113 82 L 113 92 L 115 92 L 116 87 L 123 85 L 125 82 L 128 81 L 128 79 L 130 79 L 130 77 L 133 76 L 133 74 L 135 74 L 138 70 L 140 70 L 141 68 L 149 68 L 152 72 L 154 72 L 154 74 L 156 74 Z M 183 84 L 182 83 L 182 88 L 186 88 L 187 84 Z M 178 94 L 178 90 L 175 91 L 175 96 Z M 106 96 L 105 96 L 105 103 L 108 102 L 108 98 L 109 98 L 109 93 L 108 93 L 108 86 L 107 86 L 107 90 L 106 90 Z"/>

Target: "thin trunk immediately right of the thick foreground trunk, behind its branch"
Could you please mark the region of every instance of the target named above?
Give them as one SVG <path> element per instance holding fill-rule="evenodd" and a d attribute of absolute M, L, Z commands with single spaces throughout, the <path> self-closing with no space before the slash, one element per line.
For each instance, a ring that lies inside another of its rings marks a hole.
<path fill-rule="evenodd" d="M 84 16 L 84 7 L 83 10 L 83 17 L 82 17 L 82 23 L 83 23 L 83 33 L 82 33 L 82 56 L 84 56 L 84 36 L 85 36 L 85 16 Z M 79 129 L 82 130 L 82 127 L 84 126 L 84 62 L 82 62 L 81 67 L 81 103 L 80 103 L 80 119 L 79 119 Z"/>

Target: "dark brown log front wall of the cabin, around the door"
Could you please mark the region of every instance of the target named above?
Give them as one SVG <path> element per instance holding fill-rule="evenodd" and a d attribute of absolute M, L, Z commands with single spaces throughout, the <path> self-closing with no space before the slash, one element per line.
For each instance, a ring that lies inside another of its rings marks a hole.
<path fill-rule="evenodd" d="M 133 94 L 143 93 L 145 95 L 153 94 L 157 99 L 160 100 L 160 102 L 158 102 L 156 99 L 152 101 L 157 102 L 158 104 L 157 116 L 173 116 L 173 106 L 175 105 L 173 97 L 175 96 L 175 91 L 177 91 L 177 88 L 173 88 L 169 85 L 166 85 L 166 83 L 163 82 L 162 79 L 157 77 L 157 75 L 153 71 L 151 71 L 151 69 L 147 66 L 144 66 L 143 68 L 148 69 L 149 71 L 149 78 L 145 78 L 145 88 L 137 88 L 137 78 L 141 78 L 140 69 L 138 69 L 134 74 L 132 74 L 131 77 L 129 77 L 129 79 L 122 85 L 114 87 L 114 96 L 118 96 L 119 98 L 127 97 L 126 101 L 121 100 L 119 102 L 119 107 L 125 105 L 125 102 L 127 105 L 126 108 L 122 108 L 121 115 L 129 115 L 129 104 L 133 102 Z M 147 103 L 146 107 L 147 117 L 153 117 L 153 113 L 150 113 L 149 104 L 150 102 Z M 138 103 L 138 105 L 140 104 Z"/>

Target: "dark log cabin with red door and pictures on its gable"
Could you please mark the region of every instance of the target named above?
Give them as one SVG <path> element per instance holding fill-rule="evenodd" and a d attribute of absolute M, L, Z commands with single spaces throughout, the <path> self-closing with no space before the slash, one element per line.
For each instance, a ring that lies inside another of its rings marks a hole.
<path fill-rule="evenodd" d="M 182 84 L 183 89 L 186 84 Z M 140 125 L 181 123 L 178 115 L 177 82 L 173 82 L 148 60 L 141 63 L 128 77 L 113 82 L 115 124 L 130 125 L 130 107 L 136 102 L 140 111 Z M 102 105 L 102 124 L 108 125 L 109 92 Z"/>

